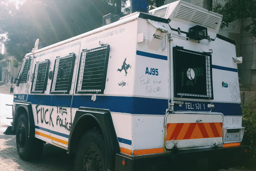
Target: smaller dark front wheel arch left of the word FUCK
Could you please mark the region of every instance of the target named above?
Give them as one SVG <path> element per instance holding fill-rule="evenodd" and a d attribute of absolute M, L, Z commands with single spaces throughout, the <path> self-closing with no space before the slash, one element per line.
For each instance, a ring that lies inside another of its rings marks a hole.
<path fill-rule="evenodd" d="M 21 113 L 26 113 L 28 118 L 28 137 L 34 137 L 34 119 L 32 106 L 30 103 L 16 103 L 12 121 L 12 131 L 16 131 L 18 117 Z"/>

